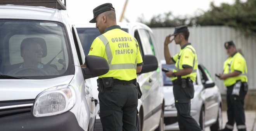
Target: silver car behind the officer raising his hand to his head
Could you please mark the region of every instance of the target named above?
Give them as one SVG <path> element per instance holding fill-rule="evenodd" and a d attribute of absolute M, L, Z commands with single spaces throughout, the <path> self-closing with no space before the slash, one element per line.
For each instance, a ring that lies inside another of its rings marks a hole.
<path fill-rule="evenodd" d="M 168 65 L 161 60 L 162 67 L 173 70 L 174 64 Z M 177 110 L 173 96 L 173 84 L 170 77 L 163 73 L 165 111 L 165 130 L 179 130 Z M 214 84 L 208 70 L 201 64 L 198 65 L 197 77 L 194 82 L 194 98 L 191 99 L 190 115 L 197 121 L 202 130 L 210 126 L 211 131 L 222 128 L 221 94 L 220 89 Z"/>

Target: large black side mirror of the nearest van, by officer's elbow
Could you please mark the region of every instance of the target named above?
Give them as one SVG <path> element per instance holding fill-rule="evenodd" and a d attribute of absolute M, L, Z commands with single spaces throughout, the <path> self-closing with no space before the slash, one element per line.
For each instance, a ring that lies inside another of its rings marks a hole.
<path fill-rule="evenodd" d="M 109 64 L 103 57 L 87 55 L 85 57 L 85 63 L 86 67 L 81 68 L 84 79 L 101 76 L 109 72 Z"/>

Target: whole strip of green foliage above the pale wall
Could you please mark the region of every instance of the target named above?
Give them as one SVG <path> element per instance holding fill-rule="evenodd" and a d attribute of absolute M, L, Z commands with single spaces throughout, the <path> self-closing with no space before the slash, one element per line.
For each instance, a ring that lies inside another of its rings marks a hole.
<path fill-rule="evenodd" d="M 149 22 L 144 21 L 144 18 L 139 18 L 138 21 L 149 27 L 226 25 L 249 35 L 251 32 L 256 32 L 255 7 L 256 0 L 247 0 L 244 3 L 236 0 L 232 5 L 222 3 L 219 7 L 211 2 L 210 9 L 198 16 L 175 17 L 171 12 L 168 12 L 152 17 Z"/>

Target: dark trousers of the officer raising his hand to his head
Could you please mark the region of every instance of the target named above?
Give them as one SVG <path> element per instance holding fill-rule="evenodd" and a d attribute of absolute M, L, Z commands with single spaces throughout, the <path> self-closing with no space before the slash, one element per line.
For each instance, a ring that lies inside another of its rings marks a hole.
<path fill-rule="evenodd" d="M 180 131 L 202 131 L 195 119 L 190 116 L 190 99 L 194 96 L 194 87 L 182 88 L 179 84 L 174 84 L 173 94 Z"/>

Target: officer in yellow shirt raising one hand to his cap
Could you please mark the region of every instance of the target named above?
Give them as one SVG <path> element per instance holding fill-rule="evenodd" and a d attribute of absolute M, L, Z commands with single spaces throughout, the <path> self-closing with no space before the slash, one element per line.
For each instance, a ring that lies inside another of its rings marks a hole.
<path fill-rule="evenodd" d="M 174 36 L 173 39 L 170 39 Z M 175 27 L 174 34 L 166 36 L 164 41 L 164 57 L 166 64 L 175 64 L 175 69 L 166 72 L 166 76 L 173 81 L 173 94 L 177 109 L 180 131 L 201 131 L 195 119 L 190 116 L 190 99 L 194 97 L 194 86 L 197 71 L 197 55 L 194 47 L 188 42 L 189 30 L 187 26 Z M 180 52 L 173 57 L 168 44 L 175 40 L 180 45 Z"/>

